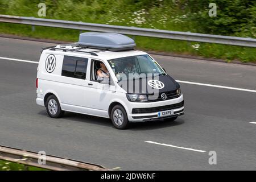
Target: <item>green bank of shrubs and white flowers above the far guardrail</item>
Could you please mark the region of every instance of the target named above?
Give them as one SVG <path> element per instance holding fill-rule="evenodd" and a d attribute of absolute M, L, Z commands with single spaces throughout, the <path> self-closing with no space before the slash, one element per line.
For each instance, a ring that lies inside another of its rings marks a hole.
<path fill-rule="evenodd" d="M 216 17 L 208 15 L 208 0 L 1 0 L 0 13 L 37 16 L 39 2 L 47 5 L 46 18 L 256 37 L 256 1 L 250 0 L 210 1 Z"/>

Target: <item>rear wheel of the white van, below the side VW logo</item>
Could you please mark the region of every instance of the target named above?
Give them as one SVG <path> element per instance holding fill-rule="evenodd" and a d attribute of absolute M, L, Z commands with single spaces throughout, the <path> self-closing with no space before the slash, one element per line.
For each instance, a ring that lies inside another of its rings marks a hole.
<path fill-rule="evenodd" d="M 49 117 L 51 118 L 60 118 L 64 114 L 64 111 L 61 110 L 60 102 L 57 100 L 57 97 L 54 95 L 51 95 L 47 98 L 46 110 Z"/>

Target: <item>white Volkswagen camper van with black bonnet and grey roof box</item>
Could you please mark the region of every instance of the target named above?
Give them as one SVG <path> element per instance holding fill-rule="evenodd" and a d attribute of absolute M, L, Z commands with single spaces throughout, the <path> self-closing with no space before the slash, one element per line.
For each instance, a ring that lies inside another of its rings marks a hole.
<path fill-rule="evenodd" d="M 52 118 L 64 111 L 129 122 L 184 113 L 180 85 L 146 52 L 121 34 L 86 32 L 79 42 L 44 48 L 36 78 L 36 103 Z"/>

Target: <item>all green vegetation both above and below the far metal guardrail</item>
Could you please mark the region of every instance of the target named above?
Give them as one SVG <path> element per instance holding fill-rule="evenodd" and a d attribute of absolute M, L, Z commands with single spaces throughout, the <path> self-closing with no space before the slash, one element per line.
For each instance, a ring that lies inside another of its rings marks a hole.
<path fill-rule="evenodd" d="M 217 16 L 209 17 L 207 0 L 1 0 L 0 14 L 38 17 L 38 3 L 47 6 L 45 18 L 115 24 L 172 31 L 190 31 L 256 38 L 256 1 L 213 0 Z M 44 17 L 43 17 L 44 18 Z M 0 32 L 36 38 L 77 41 L 80 31 L 1 23 Z M 216 57 L 243 62 L 256 60 L 256 49 L 220 44 L 137 37 L 138 48 Z"/>

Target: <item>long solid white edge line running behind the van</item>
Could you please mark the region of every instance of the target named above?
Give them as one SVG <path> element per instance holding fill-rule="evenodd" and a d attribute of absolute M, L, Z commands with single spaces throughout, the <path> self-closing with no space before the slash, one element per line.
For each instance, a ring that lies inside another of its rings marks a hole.
<path fill-rule="evenodd" d="M 0 59 L 11 60 L 11 61 L 21 61 L 21 62 L 25 62 L 25 63 L 34 63 L 34 64 L 39 63 L 37 61 L 14 59 L 14 58 L 9 58 L 9 57 L 0 57 Z M 254 93 L 256 93 L 256 90 L 250 90 L 250 89 L 242 89 L 242 88 L 236 88 L 236 87 L 230 87 L 230 86 L 221 86 L 221 85 L 212 85 L 212 84 L 203 84 L 203 83 L 199 83 L 199 82 L 182 81 L 182 80 L 176 80 L 176 81 L 180 82 L 180 83 L 184 83 L 184 84 L 211 86 L 211 87 L 222 88 L 222 89 L 232 89 L 232 90 L 240 90 L 240 91 L 245 91 L 245 92 L 254 92 Z"/>

